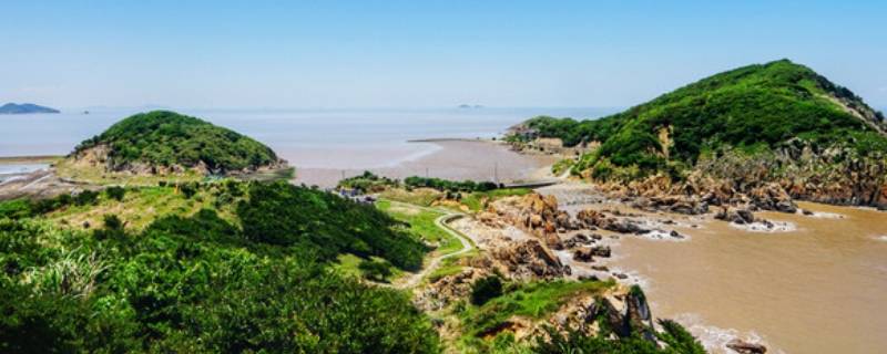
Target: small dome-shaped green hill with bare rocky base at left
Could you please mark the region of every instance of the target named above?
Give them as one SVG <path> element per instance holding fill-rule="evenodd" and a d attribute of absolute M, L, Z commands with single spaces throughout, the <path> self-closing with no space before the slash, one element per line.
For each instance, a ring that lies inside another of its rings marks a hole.
<path fill-rule="evenodd" d="M 234 131 L 169 111 L 141 113 L 82 142 L 67 166 L 167 175 L 236 174 L 285 166 L 269 147 Z"/>

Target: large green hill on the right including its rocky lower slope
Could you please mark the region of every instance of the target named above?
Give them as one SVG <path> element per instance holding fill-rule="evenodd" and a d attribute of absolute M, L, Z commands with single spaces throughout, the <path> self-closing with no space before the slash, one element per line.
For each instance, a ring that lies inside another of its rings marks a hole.
<path fill-rule="evenodd" d="M 740 190 L 776 181 L 795 197 L 887 204 L 884 115 L 788 60 L 720 73 L 600 119 L 524 126 L 568 146 L 600 142 L 573 167 L 599 181 L 696 173 Z"/>

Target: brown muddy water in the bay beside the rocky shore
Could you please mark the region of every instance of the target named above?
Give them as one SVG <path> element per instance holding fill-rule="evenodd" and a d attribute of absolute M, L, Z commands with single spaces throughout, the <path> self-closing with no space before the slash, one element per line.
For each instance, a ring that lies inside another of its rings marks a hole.
<path fill-rule="evenodd" d="M 799 206 L 817 215 L 756 214 L 785 232 L 706 220 L 683 242 L 624 237 L 613 264 L 716 353 L 734 336 L 768 353 L 887 353 L 887 212 Z"/>

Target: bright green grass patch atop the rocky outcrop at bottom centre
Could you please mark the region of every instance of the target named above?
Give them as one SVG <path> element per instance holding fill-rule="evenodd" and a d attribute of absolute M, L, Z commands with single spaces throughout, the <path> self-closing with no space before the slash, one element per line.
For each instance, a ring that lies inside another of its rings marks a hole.
<path fill-rule="evenodd" d="M 470 337 L 492 334 L 513 316 L 540 320 L 572 298 L 600 294 L 614 284 L 612 280 L 512 283 L 503 295 L 481 306 L 465 304 L 458 314 L 462 322 L 462 334 Z"/>

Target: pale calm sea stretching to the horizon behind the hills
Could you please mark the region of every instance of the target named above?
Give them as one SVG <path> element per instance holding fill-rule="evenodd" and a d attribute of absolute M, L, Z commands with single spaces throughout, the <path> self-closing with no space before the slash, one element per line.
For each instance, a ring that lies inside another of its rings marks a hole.
<path fill-rule="evenodd" d="M 144 110 L 143 110 L 144 111 Z M 391 167 L 434 153 L 426 138 L 495 137 L 536 115 L 592 118 L 619 108 L 175 110 L 246 134 L 297 168 Z M 64 155 L 139 110 L 0 116 L 0 157 Z"/>

